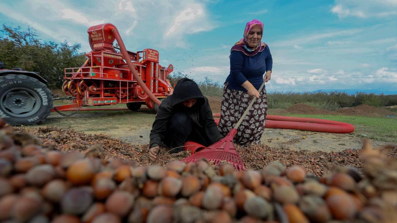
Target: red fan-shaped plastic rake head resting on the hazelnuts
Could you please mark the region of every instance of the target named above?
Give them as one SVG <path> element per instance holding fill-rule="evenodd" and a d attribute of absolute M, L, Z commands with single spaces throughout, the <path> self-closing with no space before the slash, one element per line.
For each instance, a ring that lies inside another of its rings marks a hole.
<path fill-rule="evenodd" d="M 208 161 L 213 161 L 216 165 L 220 165 L 221 161 L 227 161 L 231 163 L 235 169 L 245 170 L 243 160 L 241 160 L 239 152 L 237 152 L 237 148 L 233 143 L 233 137 L 236 133 L 237 129 L 232 129 L 222 140 L 188 156 L 182 161 L 185 163 L 196 163 L 201 158 L 205 158 Z"/>

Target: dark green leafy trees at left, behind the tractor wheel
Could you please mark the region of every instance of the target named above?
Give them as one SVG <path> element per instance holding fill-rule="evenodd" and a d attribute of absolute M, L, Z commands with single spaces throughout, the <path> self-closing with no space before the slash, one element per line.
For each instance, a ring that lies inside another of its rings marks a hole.
<path fill-rule="evenodd" d="M 61 88 L 65 68 L 80 67 L 84 63 L 85 53 L 79 52 L 80 48 L 80 44 L 69 45 L 66 40 L 43 41 L 31 27 L 23 30 L 3 24 L 0 33 L 0 61 L 4 69 L 21 67 L 39 72 L 48 80 L 50 88 Z"/>

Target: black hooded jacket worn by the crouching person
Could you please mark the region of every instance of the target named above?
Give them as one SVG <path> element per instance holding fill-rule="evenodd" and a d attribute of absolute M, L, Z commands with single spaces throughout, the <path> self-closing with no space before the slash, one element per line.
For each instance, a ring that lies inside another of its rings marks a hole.
<path fill-rule="evenodd" d="M 196 98 L 196 103 L 187 108 L 182 102 Z M 150 131 L 150 148 L 159 146 L 166 137 L 167 122 L 175 112 L 187 112 L 192 119 L 195 128 L 205 133 L 212 143 L 222 139 L 218 127 L 212 117 L 212 111 L 208 99 L 204 97 L 198 88 L 198 85 L 189 78 L 183 78 L 178 81 L 173 94 L 164 99 L 154 120 L 152 131 Z"/>

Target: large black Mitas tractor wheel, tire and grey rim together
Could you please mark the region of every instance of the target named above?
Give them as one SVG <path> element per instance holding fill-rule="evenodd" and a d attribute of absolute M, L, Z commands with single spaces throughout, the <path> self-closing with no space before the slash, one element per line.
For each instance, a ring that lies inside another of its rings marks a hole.
<path fill-rule="evenodd" d="M 0 77 L 0 118 L 10 125 L 36 125 L 50 115 L 54 98 L 47 86 L 26 75 Z"/>

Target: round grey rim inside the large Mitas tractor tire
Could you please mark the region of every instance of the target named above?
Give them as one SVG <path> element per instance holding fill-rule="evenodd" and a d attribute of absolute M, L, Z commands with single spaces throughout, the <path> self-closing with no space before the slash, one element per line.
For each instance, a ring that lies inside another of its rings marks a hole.
<path fill-rule="evenodd" d="M 27 88 L 12 88 L 1 96 L 0 107 L 13 117 L 29 117 L 41 106 L 39 94 Z"/>

